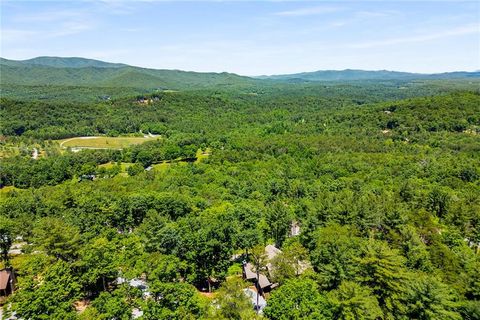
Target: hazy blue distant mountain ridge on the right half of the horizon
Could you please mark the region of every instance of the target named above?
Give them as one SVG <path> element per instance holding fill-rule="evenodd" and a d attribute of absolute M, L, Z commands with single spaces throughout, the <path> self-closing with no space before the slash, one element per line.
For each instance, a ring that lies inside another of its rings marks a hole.
<path fill-rule="evenodd" d="M 409 73 L 398 71 L 365 71 L 365 70 L 323 70 L 314 72 L 302 72 L 294 74 L 282 74 L 272 76 L 260 76 L 258 79 L 270 79 L 280 81 L 350 81 L 350 80 L 414 80 L 414 79 L 459 79 L 479 78 L 480 71 L 446 72 L 436 74 Z"/>

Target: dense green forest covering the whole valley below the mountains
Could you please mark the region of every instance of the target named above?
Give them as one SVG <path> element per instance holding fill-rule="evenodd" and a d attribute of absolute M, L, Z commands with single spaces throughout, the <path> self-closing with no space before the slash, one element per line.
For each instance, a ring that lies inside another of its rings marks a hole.
<path fill-rule="evenodd" d="M 113 85 L 111 99 L 2 86 L 0 250 L 18 280 L 4 312 L 480 319 L 478 80 L 257 81 Z M 77 153 L 54 141 L 140 132 L 162 139 Z M 260 268 L 267 244 L 282 250 L 279 286 L 257 315 L 241 263 Z"/>

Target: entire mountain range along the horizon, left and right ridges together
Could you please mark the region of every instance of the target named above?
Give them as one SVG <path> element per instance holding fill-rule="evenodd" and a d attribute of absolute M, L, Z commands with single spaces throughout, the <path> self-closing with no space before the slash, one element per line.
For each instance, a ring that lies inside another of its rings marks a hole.
<path fill-rule="evenodd" d="M 2 85 L 62 85 L 186 89 L 238 86 L 259 82 L 414 80 L 480 78 L 476 72 L 418 74 L 396 71 L 326 70 L 287 75 L 244 77 L 233 73 L 156 70 L 85 58 L 38 57 L 16 61 L 0 58 Z"/>

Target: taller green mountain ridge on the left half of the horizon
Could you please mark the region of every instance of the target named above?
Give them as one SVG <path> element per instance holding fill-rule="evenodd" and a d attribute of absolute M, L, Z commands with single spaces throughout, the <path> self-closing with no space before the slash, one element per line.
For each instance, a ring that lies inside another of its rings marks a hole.
<path fill-rule="evenodd" d="M 233 73 L 156 70 L 84 58 L 0 58 L 0 84 L 185 89 L 258 82 Z"/>

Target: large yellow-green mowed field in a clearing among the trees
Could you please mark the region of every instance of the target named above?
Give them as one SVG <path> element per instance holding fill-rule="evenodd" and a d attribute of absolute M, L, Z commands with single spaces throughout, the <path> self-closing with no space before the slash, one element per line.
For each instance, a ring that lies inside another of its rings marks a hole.
<path fill-rule="evenodd" d="M 144 137 L 76 137 L 57 140 L 62 148 L 123 149 L 134 144 L 160 139 L 160 136 Z"/>

